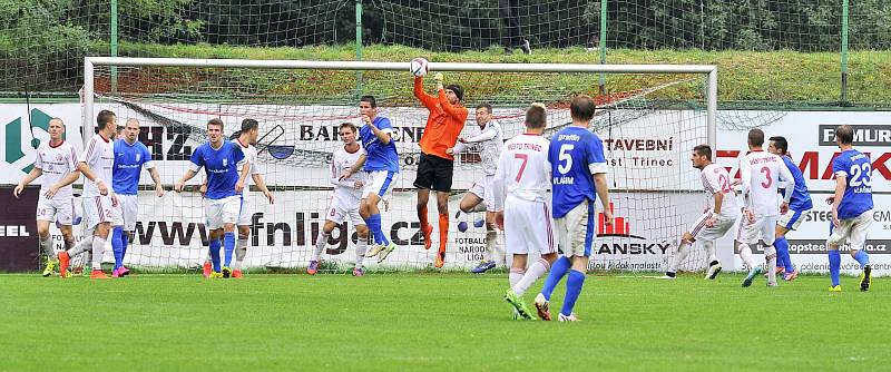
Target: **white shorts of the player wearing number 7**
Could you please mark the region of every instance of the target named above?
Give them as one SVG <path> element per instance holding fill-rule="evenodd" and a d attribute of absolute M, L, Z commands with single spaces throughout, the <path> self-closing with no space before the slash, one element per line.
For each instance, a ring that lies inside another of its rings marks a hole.
<path fill-rule="evenodd" d="M 547 203 L 508 196 L 505 203 L 505 247 L 512 254 L 557 252 Z"/>

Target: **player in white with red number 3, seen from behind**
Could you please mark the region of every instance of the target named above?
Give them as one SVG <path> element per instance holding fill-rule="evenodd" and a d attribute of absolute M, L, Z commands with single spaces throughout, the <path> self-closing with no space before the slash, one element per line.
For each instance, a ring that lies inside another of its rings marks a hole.
<path fill-rule="evenodd" d="M 740 185 L 743 192 L 743 216 L 736 239 L 740 241 L 740 257 L 748 266 L 748 275 L 743 286 L 752 285 L 752 281 L 761 274 L 761 265 L 755 265 L 750 245 L 763 241 L 764 260 L 767 262 L 767 286 L 776 286 L 776 248 L 775 226 L 780 213 L 789 212 L 789 200 L 795 188 L 795 178 L 786 168 L 783 159 L 775 154 L 764 151 L 764 131 L 748 131 L 748 153 L 740 160 Z M 779 185 L 785 185 L 782 205 L 777 205 Z"/>

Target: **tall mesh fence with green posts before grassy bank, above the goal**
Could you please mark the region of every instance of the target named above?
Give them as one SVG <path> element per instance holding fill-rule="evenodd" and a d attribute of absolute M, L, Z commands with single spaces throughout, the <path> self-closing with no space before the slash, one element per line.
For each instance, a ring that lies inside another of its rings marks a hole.
<path fill-rule="evenodd" d="M 82 84 L 87 55 L 427 55 L 456 61 L 716 63 L 725 105 L 891 107 L 888 1 L 542 0 L 508 9 L 500 2 L 0 0 L 0 91 L 70 97 Z M 519 23 L 517 38 L 511 18 Z M 530 41 L 532 56 L 511 48 L 518 39 Z"/>

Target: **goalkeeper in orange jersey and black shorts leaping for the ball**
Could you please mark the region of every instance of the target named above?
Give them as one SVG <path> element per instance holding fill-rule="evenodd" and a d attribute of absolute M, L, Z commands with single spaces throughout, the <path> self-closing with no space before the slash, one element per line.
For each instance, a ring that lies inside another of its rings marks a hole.
<path fill-rule="evenodd" d="M 452 166 L 454 156 L 447 149 L 454 147 L 458 135 L 464 128 L 468 110 L 461 105 L 464 89 L 457 84 L 442 86 L 442 72 L 433 77 L 437 81 L 437 95 L 423 89 L 423 78 L 414 77 L 414 97 L 421 101 L 430 115 L 427 117 L 424 133 L 421 136 L 421 159 L 418 163 L 418 175 L 414 187 L 418 188 L 418 219 L 424 236 L 424 248 L 430 249 L 430 235 L 433 226 L 427 219 L 427 203 L 430 190 L 437 195 L 439 213 L 439 253 L 437 268 L 446 264 L 446 243 L 449 238 L 449 192 L 452 188 Z"/>

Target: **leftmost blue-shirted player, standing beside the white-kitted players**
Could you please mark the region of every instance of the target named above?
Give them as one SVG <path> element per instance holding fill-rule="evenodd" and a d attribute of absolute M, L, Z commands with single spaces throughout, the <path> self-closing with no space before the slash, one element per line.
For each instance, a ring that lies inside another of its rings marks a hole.
<path fill-rule="evenodd" d="M 148 147 L 138 141 L 139 120 L 127 119 L 124 138 L 115 140 L 115 168 L 111 172 L 111 188 L 118 196 L 118 205 L 111 208 L 111 249 L 115 254 L 115 270 L 111 277 L 120 277 L 130 273 L 124 266 L 124 256 L 127 254 L 127 243 L 133 238 L 136 228 L 136 218 L 139 203 L 139 175 L 143 168 L 148 169 L 151 180 L 155 182 L 155 195 L 164 196 L 164 186 L 160 175 L 151 161 Z"/>

